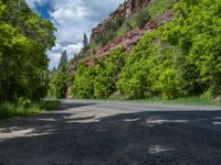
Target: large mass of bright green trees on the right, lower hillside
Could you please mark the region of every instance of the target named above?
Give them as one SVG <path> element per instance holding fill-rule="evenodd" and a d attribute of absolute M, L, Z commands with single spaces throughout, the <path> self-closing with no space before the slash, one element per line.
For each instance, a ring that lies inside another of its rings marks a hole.
<path fill-rule="evenodd" d="M 219 0 L 182 0 L 176 19 L 146 34 L 117 82 L 128 98 L 221 95 Z"/>

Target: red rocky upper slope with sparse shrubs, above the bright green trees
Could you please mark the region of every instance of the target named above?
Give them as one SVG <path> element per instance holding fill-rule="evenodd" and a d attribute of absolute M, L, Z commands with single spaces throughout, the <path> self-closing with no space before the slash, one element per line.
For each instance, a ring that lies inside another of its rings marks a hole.
<path fill-rule="evenodd" d="M 120 4 L 117 10 L 110 13 L 106 20 L 104 20 L 95 29 L 92 30 L 92 34 L 90 37 L 91 46 L 86 51 L 82 51 L 72 61 L 72 65 L 70 65 L 71 73 L 75 73 L 80 62 L 87 61 L 87 63 L 91 65 L 94 63 L 94 58 L 105 56 L 112 50 L 116 48 L 119 45 L 124 46 L 127 53 L 130 52 L 145 33 L 148 33 L 149 31 L 152 31 L 158 26 L 169 22 L 173 16 L 171 7 L 176 3 L 176 0 L 169 0 L 169 3 L 165 7 L 161 7 L 160 11 L 154 11 L 156 13 L 152 13 L 152 19 L 147 18 L 147 20 L 140 20 L 141 22 L 144 22 L 141 26 L 138 26 L 138 24 L 136 23 L 131 23 L 131 25 L 129 24 L 129 21 L 131 20 L 134 22 L 138 22 L 139 16 L 149 16 L 149 13 L 146 14 L 144 12 L 148 12 L 148 9 L 155 9 L 158 4 L 161 3 L 161 1 L 162 0 L 127 0 L 123 4 Z M 138 16 L 138 19 L 136 19 L 136 16 Z M 108 25 L 112 25 L 112 23 L 119 18 L 123 20 L 123 22 L 117 28 L 117 30 L 119 30 L 122 26 L 125 28 L 127 25 L 129 25 L 130 28 L 119 36 L 107 38 L 107 42 L 101 45 L 101 35 L 105 34 Z M 96 48 L 94 48 L 94 45 Z"/>

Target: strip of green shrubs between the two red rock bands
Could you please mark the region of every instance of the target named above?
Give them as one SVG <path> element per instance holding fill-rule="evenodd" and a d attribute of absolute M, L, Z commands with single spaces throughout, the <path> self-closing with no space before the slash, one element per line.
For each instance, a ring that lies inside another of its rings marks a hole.
<path fill-rule="evenodd" d="M 97 36 L 95 43 L 104 46 L 116 37 L 124 36 L 135 28 L 144 28 L 151 19 L 160 16 L 166 10 L 172 8 L 178 0 L 155 0 L 146 8 L 138 8 L 135 13 L 128 18 L 122 15 L 106 24 L 103 32 Z M 137 1 L 141 4 L 141 1 Z"/>

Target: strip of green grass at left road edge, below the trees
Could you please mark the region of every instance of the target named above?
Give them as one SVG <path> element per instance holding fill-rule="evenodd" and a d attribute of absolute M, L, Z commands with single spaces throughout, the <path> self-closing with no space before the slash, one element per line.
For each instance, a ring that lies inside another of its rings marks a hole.
<path fill-rule="evenodd" d="M 0 120 L 11 117 L 27 117 L 34 116 L 42 111 L 50 111 L 59 108 L 61 102 L 57 100 L 41 101 L 34 103 L 10 103 L 1 102 L 0 103 Z"/>

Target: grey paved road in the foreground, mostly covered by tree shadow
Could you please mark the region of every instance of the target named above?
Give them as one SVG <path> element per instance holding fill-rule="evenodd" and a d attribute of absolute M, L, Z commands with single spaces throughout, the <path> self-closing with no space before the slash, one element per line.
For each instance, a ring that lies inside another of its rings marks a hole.
<path fill-rule="evenodd" d="M 0 165 L 220 164 L 220 107 L 63 100 L 0 127 Z"/>

